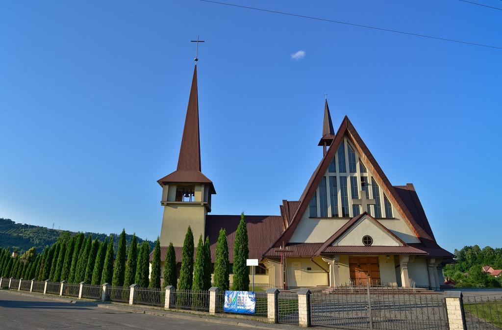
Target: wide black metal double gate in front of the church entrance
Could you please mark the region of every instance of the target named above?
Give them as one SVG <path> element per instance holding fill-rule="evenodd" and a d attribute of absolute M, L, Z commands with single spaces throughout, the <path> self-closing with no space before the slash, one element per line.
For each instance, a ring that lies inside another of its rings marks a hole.
<path fill-rule="evenodd" d="M 442 295 L 398 287 L 342 286 L 311 294 L 312 324 L 346 329 L 447 330 Z"/>

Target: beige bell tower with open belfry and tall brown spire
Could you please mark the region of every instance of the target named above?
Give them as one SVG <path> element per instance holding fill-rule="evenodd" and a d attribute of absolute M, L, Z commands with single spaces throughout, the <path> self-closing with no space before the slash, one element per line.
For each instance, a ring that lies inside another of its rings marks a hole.
<path fill-rule="evenodd" d="M 216 191 L 212 181 L 201 172 L 197 64 L 193 71 L 178 167 L 157 182 L 162 186 L 161 205 L 164 206 L 160 245 L 183 246 L 188 226 L 192 228 L 195 240 L 199 235 L 204 237 L 206 214 L 211 211 L 211 195 Z"/>

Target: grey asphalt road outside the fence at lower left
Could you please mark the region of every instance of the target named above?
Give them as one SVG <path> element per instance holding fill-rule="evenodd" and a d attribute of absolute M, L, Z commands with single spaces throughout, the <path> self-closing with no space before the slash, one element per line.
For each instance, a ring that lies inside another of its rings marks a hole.
<path fill-rule="evenodd" d="M 67 303 L 15 293 L 0 293 L 0 329 L 222 329 L 235 326 L 159 317 L 98 308 L 86 302 Z"/>

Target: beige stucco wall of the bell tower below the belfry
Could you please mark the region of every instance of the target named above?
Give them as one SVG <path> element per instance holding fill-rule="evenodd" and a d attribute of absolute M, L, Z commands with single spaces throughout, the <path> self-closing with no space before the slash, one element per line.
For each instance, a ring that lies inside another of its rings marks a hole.
<path fill-rule="evenodd" d="M 171 190 L 171 188 L 169 188 Z M 171 192 L 171 191 L 170 191 Z M 164 217 L 160 234 L 160 245 L 183 246 L 188 226 L 192 228 L 194 241 L 204 235 L 206 208 L 201 204 L 168 204 L 164 206 Z"/>

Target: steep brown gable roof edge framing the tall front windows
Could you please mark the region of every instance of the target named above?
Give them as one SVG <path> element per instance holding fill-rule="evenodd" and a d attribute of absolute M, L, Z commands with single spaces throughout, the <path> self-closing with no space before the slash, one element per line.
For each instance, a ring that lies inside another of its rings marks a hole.
<path fill-rule="evenodd" d="M 309 204 L 310 199 L 312 198 L 314 192 L 319 185 L 322 176 L 326 173 L 329 163 L 335 156 L 337 152 L 336 147 L 340 145 L 343 141 L 343 137 L 347 135 L 352 144 L 357 149 L 357 152 L 360 155 L 363 163 L 366 165 L 368 170 L 373 173 L 374 178 L 378 182 L 378 184 L 384 189 L 385 194 L 391 200 L 391 202 L 395 205 L 398 211 L 403 214 L 404 221 L 406 221 L 411 230 L 415 233 L 415 235 L 424 243 L 430 245 L 437 245 L 433 237 L 431 237 L 427 231 L 425 231 L 417 221 L 415 221 L 413 215 L 408 210 L 406 204 L 401 199 L 400 195 L 396 192 L 394 187 L 391 185 L 391 182 L 385 175 L 384 171 L 380 167 L 380 165 L 376 162 L 371 152 L 368 150 L 359 134 L 355 130 L 354 126 L 350 122 L 347 116 L 344 117 L 338 131 L 336 133 L 335 139 L 331 142 L 330 148 L 328 152 L 324 155 L 321 162 L 319 163 L 317 169 L 313 173 L 311 179 L 309 180 L 307 187 L 305 188 L 302 197 L 300 198 L 300 205 L 293 216 L 290 226 L 286 229 L 286 231 L 279 237 L 279 239 L 274 244 L 274 247 L 279 247 L 283 242 L 288 243 L 291 239 L 298 223 L 300 222 L 300 218 L 303 213 L 306 211 L 307 206 Z"/>

